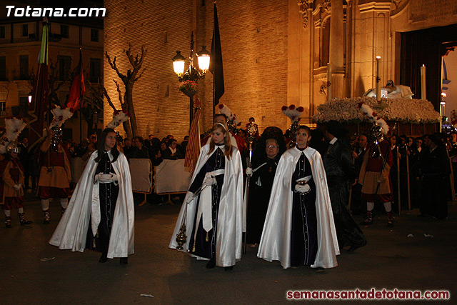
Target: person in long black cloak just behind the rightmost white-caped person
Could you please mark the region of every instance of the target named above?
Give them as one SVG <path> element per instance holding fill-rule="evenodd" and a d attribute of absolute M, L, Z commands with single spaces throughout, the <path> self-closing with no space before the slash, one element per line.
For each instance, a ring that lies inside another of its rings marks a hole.
<path fill-rule="evenodd" d="M 338 245 L 349 246 L 352 252 L 366 245 L 365 236 L 348 211 L 349 187 L 356 178 L 351 149 L 341 140 L 347 130 L 338 121 L 329 121 L 325 136 L 330 141 L 323 166 L 326 169 L 328 193 L 330 194 L 333 220 L 335 221 Z"/>

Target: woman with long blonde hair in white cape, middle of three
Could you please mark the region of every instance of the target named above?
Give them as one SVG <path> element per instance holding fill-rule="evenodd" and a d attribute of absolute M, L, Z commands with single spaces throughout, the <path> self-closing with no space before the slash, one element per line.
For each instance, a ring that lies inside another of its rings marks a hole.
<path fill-rule="evenodd" d="M 181 207 L 169 247 L 186 221 L 186 242 L 181 251 L 209 260 L 206 268 L 233 269 L 241 259 L 243 208 L 241 156 L 232 146 L 224 122 L 214 124 L 211 139 L 200 151 L 189 191 Z"/>

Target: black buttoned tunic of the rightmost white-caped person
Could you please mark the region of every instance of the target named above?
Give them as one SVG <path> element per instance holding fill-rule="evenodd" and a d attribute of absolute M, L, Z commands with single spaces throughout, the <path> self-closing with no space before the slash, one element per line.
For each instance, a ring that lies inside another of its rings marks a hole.
<path fill-rule="evenodd" d="M 317 254 L 317 216 L 316 184 L 313 179 L 308 182 L 311 188 L 308 194 L 295 191 L 296 180 L 311 176 L 309 164 L 303 152 L 292 175 L 292 226 L 291 226 L 291 266 L 314 264 Z"/>

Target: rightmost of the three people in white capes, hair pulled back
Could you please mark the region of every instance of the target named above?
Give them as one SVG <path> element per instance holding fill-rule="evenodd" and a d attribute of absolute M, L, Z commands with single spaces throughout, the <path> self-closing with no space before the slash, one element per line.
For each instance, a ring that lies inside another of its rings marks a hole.
<path fill-rule="evenodd" d="M 321 155 L 311 147 L 311 130 L 300 126 L 296 146 L 276 169 L 257 256 L 284 269 L 338 266 L 340 254 Z"/>

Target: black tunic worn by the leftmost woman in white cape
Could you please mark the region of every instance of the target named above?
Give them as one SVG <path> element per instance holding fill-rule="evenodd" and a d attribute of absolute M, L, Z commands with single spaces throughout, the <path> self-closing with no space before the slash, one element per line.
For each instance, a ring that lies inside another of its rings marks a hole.
<path fill-rule="evenodd" d="M 97 165 L 95 174 L 116 174 L 108 153 L 105 151 Z M 117 196 L 119 194 L 119 184 L 113 182 L 109 184 L 99 184 L 99 199 L 100 199 L 100 224 L 97 234 L 94 238 L 92 234 L 91 221 L 89 221 L 89 230 L 87 231 L 86 249 L 100 251 L 103 254 L 108 253 L 109 236 L 111 236 L 111 227 L 113 225 L 114 210 L 116 209 Z M 95 247 L 94 247 L 95 239 Z"/>

